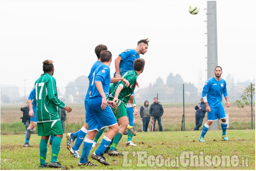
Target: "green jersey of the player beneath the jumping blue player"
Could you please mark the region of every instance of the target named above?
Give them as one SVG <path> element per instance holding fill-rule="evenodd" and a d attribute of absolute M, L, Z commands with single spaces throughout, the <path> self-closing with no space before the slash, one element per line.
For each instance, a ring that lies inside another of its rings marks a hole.
<path fill-rule="evenodd" d="M 135 70 L 130 70 L 128 72 L 125 72 L 123 75 L 123 78 L 125 78 L 127 81 L 129 81 L 129 87 L 125 86 L 125 83 L 123 81 L 119 81 L 117 83 L 117 86 L 114 87 L 114 89 L 111 91 L 109 97 L 111 99 L 114 98 L 114 94 L 116 93 L 117 87 L 122 86 L 123 89 L 119 93 L 118 99 L 121 100 L 124 104 L 127 103 L 131 97 L 131 94 L 133 93 L 135 86 L 136 86 L 136 80 L 137 80 L 137 72 Z"/>

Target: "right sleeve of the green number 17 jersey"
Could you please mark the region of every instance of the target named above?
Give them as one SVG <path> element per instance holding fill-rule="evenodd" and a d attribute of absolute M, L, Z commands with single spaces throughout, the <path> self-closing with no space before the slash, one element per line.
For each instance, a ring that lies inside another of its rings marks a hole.
<path fill-rule="evenodd" d="M 56 80 L 52 77 L 52 79 L 49 79 L 48 84 L 46 85 L 47 93 L 48 93 L 48 99 L 54 103 L 54 105 L 64 109 L 65 108 L 65 103 L 60 101 L 58 99 L 58 94 L 56 90 Z"/>

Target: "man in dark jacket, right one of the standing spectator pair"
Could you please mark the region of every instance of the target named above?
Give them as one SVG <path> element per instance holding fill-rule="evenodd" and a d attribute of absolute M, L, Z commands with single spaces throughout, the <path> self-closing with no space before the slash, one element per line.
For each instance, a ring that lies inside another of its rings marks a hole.
<path fill-rule="evenodd" d="M 153 128 L 153 131 L 155 131 L 156 120 L 157 120 L 158 125 L 159 125 L 159 130 L 162 131 L 161 116 L 164 113 L 164 109 L 162 108 L 161 103 L 158 102 L 157 97 L 154 98 L 154 103 L 152 103 L 152 105 L 150 106 L 149 113 L 154 118 L 154 128 Z"/>

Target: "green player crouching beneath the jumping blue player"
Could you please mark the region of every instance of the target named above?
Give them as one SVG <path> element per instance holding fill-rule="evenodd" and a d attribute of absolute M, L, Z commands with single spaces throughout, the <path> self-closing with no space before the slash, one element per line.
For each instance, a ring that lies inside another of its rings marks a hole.
<path fill-rule="evenodd" d="M 129 123 L 125 105 L 129 101 L 131 94 L 135 89 L 137 76 L 143 72 L 144 66 L 144 59 L 136 59 L 133 63 L 133 70 L 130 70 L 123 75 L 123 78 L 129 81 L 129 87 L 125 87 L 125 84 L 119 81 L 108 97 L 108 100 L 112 100 L 117 103 L 117 107 L 112 109 L 112 111 L 114 112 L 119 124 L 119 132 L 114 136 L 112 145 L 108 150 L 108 155 L 122 155 L 122 153 L 117 151 L 117 144 L 121 140 Z"/>

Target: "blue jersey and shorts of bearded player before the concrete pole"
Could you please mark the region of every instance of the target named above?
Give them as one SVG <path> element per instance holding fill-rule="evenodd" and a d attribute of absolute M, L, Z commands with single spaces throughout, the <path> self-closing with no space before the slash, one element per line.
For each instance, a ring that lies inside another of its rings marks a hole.
<path fill-rule="evenodd" d="M 211 112 L 207 112 L 208 121 L 226 118 L 222 95 L 227 97 L 226 81 L 223 78 L 218 81 L 215 77 L 212 77 L 206 81 L 202 97 L 207 97 L 207 102 L 211 108 Z"/>

